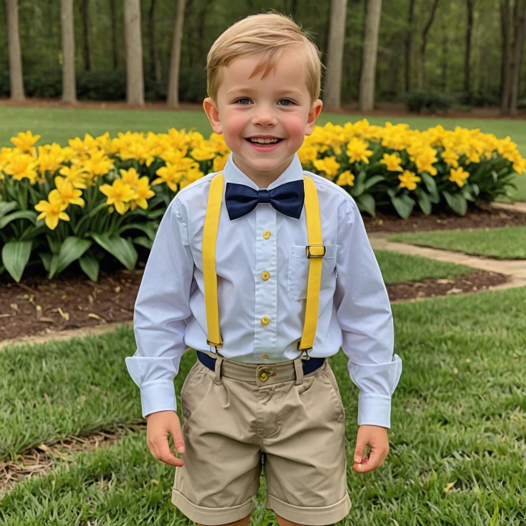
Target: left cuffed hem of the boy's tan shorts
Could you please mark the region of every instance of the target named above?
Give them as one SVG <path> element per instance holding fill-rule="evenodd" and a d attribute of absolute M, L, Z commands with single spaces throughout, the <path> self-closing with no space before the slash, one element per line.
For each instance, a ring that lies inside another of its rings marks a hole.
<path fill-rule="evenodd" d="M 183 512 L 188 519 L 198 524 L 227 524 L 228 522 L 244 519 L 254 511 L 256 507 L 256 498 L 250 497 L 245 502 L 232 506 L 230 508 L 205 508 L 190 502 L 182 493 L 173 489 L 171 493 L 171 502 Z"/>

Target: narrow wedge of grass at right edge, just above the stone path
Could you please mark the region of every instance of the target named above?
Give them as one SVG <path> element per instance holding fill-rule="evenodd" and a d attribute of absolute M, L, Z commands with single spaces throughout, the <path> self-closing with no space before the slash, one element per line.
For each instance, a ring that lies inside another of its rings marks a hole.
<path fill-rule="evenodd" d="M 526 259 L 526 227 L 403 232 L 387 240 L 497 259 Z"/>

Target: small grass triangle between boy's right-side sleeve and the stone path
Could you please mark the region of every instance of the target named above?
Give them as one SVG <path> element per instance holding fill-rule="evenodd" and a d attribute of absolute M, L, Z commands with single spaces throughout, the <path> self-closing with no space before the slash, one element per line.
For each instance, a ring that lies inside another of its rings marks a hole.
<path fill-rule="evenodd" d="M 431 278 L 455 279 L 461 274 L 471 274 L 476 270 L 466 265 L 436 261 L 393 250 L 375 250 L 375 256 L 386 285 Z"/>

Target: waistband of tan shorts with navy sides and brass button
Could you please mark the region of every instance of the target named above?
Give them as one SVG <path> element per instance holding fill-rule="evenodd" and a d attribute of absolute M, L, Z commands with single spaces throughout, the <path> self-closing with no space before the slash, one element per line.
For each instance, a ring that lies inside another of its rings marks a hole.
<path fill-rule="evenodd" d="M 326 361 L 325 358 L 311 357 L 306 360 L 298 357 L 277 363 L 242 363 L 209 351 L 197 351 L 197 359 L 213 371 L 214 381 L 219 385 L 221 377 L 226 376 L 260 386 L 292 380 L 296 380 L 296 385 L 299 385 L 304 376 L 322 367 Z"/>

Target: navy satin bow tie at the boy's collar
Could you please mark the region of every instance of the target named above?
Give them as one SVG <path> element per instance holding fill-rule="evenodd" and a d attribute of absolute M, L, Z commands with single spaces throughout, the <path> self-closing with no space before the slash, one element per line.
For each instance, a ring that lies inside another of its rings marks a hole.
<path fill-rule="evenodd" d="M 237 183 L 227 183 L 225 189 L 225 202 L 230 220 L 248 214 L 258 203 L 270 203 L 282 214 L 299 219 L 304 199 L 302 180 L 290 181 L 271 190 L 256 190 Z"/>

